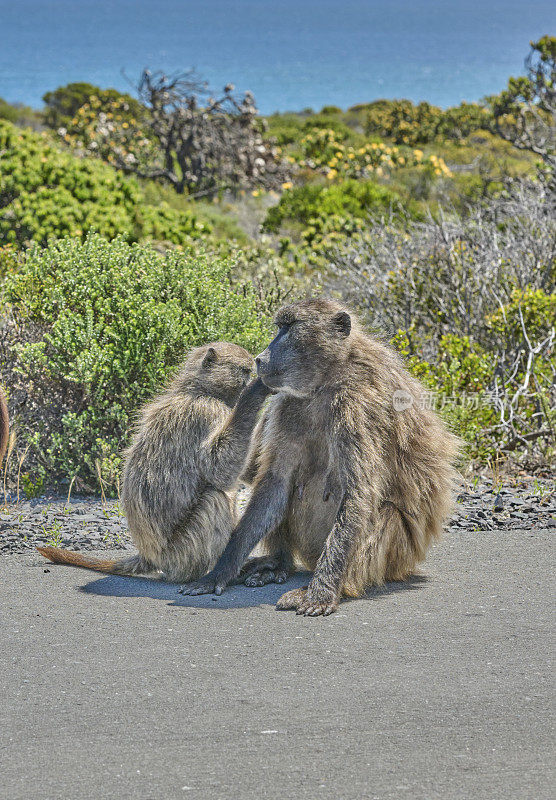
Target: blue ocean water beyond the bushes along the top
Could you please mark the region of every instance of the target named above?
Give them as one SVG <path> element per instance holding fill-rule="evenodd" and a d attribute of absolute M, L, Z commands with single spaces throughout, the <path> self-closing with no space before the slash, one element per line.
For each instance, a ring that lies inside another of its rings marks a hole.
<path fill-rule="evenodd" d="M 378 97 L 447 106 L 523 71 L 553 0 L 0 0 L 0 97 L 195 67 L 263 113 Z"/>

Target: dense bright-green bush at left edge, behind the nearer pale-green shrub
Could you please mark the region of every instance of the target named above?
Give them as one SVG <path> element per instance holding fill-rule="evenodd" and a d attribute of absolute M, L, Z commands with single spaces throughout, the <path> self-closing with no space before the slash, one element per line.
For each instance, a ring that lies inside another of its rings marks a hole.
<path fill-rule="evenodd" d="M 59 150 L 46 134 L 0 120 L 0 242 L 46 244 L 50 237 L 84 238 L 91 230 L 183 244 L 208 226 L 192 212 L 145 205 L 135 180 Z"/>

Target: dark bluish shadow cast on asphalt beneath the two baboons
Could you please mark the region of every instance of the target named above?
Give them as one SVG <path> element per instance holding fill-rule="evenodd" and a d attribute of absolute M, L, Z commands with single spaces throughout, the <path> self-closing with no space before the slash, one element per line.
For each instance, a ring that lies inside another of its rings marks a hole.
<path fill-rule="evenodd" d="M 275 605 L 279 597 L 290 589 L 306 586 L 311 579 L 309 572 L 296 572 L 286 583 L 269 583 L 267 586 L 229 586 L 220 597 L 199 595 L 190 597 L 178 593 L 179 584 L 162 580 L 107 575 L 82 586 L 79 591 L 107 597 L 151 597 L 166 600 L 172 606 L 187 608 L 253 608 L 262 605 Z M 411 591 L 421 588 L 427 582 L 423 575 L 414 575 L 407 581 L 386 583 L 384 586 L 369 589 L 363 599 L 380 600 L 394 592 Z"/>

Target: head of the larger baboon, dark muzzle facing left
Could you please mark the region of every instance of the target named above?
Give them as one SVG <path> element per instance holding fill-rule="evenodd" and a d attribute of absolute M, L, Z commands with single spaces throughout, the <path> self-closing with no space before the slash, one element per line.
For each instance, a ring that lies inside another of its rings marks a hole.
<path fill-rule="evenodd" d="M 331 377 L 342 360 L 351 319 L 321 302 L 288 306 L 278 313 L 278 334 L 257 358 L 257 374 L 269 388 L 308 397 Z"/>

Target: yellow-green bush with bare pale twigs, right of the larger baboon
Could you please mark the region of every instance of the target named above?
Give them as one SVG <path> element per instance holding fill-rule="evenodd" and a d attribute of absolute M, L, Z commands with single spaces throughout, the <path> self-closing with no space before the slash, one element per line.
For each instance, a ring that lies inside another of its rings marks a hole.
<path fill-rule="evenodd" d="M 528 351 L 522 347 L 524 328 L 535 347 L 549 335 L 555 319 L 556 294 L 534 288 L 515 289 L 510 302 L 485 320 L 491 332 L 488 349 L 470 336 L 446 334 L 439 340 L 434 360 L 427 362 L 422 356 L 425 342 L 419 338 L 413 336 L 413 345 L 410 345 L 408 335 L 398 331 L 393 344 L 404 356 L 410 371 L 433 392 L 437 410 L 464 439 L 468 456 L 484 464 L 494 462 L 504 448 L 515 447 L 515 442 L 508 441 L 507 431 L 500 425 L 499 411 L 492 398 L 496 375 L 501 385 L 499 402 L 505 404 L 508 396 L 512 398 L 512 414 L 522 435 L 541 411 L 545 425 L 552 428 L 556 425 L 550 389 L 556 370 L 554 348 L 541 351 L 528 377 Z M 417 352 L 415 341 L 419 342 Z M 519 357 L 508 364 L 493 352 L 500 354 L 516 349 Z M 508 373 L 512 375 L 511 382 L 504 385 Z M 506 410 L 504 416 L 508 413 Z M 548 459 L 553 455 L 553 447 L 554 441 L 545 451 Z"/>

